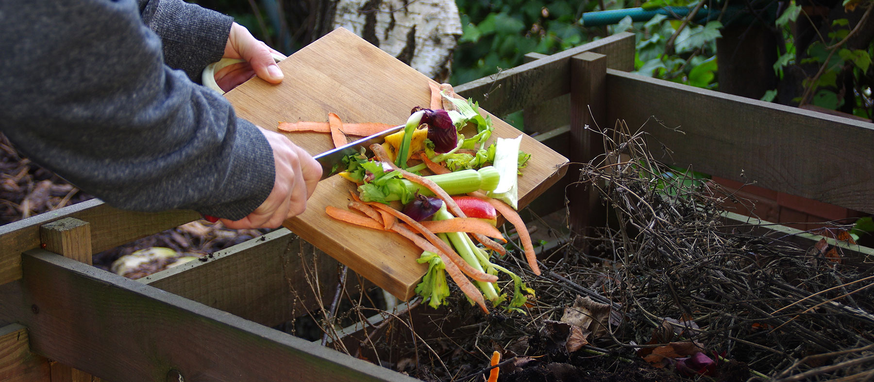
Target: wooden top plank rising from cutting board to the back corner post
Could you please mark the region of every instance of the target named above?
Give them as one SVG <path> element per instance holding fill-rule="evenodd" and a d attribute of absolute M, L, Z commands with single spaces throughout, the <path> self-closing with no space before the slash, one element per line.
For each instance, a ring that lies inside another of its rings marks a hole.
<path fill-rule="evenodd" d="M 635 35 L 622 32 L 458 85 L 455 92 L 496 115 L 513 113 L 571 92 L 570 58 L 585 51 L 607 55 L 608 68 L 634 70 Z"/>

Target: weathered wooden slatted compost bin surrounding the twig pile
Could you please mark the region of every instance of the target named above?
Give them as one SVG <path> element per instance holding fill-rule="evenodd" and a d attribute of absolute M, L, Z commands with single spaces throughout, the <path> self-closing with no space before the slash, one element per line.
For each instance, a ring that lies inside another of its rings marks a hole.
<path fill-rule="evenodd" d="M 669 164 L 874 213 L 874 125 L 630 74 L 634 39 L 621 33 L 530 55 L 525 65 L 456 90 L 495 115 L 524 110 L 530 132 L 572 161 L 588 161 L 601 146 L 586 125 L 623 119 L 636 128 L 655 116 L 683 131 L 644 126 L 671 150 L 662 158 Z M 572 167 L 565 178 L 577 173 Z M 564 208 L 552 202 L 562 200 L 564 187 L 532 208 L 541 215 Z M 585 228 L 590 196 L 569 196 L 573 225 Z M 302 262 L 316 262 L 323 282 L 336 282 L 336 262 L 308 257 L 313 251 L 287 229 L 137 281 L 87 264 L 95 252 L 198 217 L 87 201 L 0 228 L 0 381 L 176 381 L 180 374 L 185 381 L 416 380 L 270 329 L 320 298 L 290 297 L 290 290 L 309 290 Z M 831 242 L 859 260 L 871 255 Z"/>

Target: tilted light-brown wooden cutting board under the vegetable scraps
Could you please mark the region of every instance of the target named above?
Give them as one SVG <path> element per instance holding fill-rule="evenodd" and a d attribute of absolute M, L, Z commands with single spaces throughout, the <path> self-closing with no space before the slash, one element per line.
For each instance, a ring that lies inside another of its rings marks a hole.
<path fill-rule="evenodd" d="M 281 84 L 253 78 L 225 95 L 240 117 L 273 131 L 279 121 L 327 121 L 331 112 L 344 122 L 401 125 L 413 106 L 429 105 L 428 81 L 434 82 L 343 28 L 297 51 L 280 67 L 285 74 Z M 492 120 L 492 141 L 520 134 L 502 120 Z M 326 133 L 287 135 L 310 154 L 333 148 Z M 558 181 L 567 164 L 565 157 L 527 135 L 522 150 L 531 153 L 531 160 L 519 177 L 520 208 Z M 336 175 L 319 182 L 307 211 L 283 225 L 392 295 L 413 297 L 427 270 L 416 263 L 420 249 L 400 235 L 337 222 L 325 214 L 326 206 L 346 208 L 353 189 L 355 185 Z"/>

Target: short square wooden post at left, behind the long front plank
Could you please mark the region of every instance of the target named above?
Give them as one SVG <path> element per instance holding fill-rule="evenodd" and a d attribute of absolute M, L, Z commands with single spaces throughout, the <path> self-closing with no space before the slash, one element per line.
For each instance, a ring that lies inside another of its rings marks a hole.
<path fill-rule="evenodd" d="M 92 265 L 91 262 L 91 226 L 88 222 L 74 217 L 43 224 L 39 227 L 41 246 L 45 250 L 60 256 L 71 258 L 80 263 Z M 95 379 L 87 372 L 73 369 L 67 365 L 50 361 L 52 382 L 94 382 Z"/>

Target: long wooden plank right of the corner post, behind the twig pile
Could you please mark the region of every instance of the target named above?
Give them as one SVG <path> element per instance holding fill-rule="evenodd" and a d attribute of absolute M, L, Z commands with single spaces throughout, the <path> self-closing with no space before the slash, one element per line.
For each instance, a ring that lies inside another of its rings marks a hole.
<path fill-rule="evenodd" d="M 874 124 L 613 70 L 607 89 L 608 120 L 670 127 L 644 126 L 658 160 L 874 213 Z"/>

